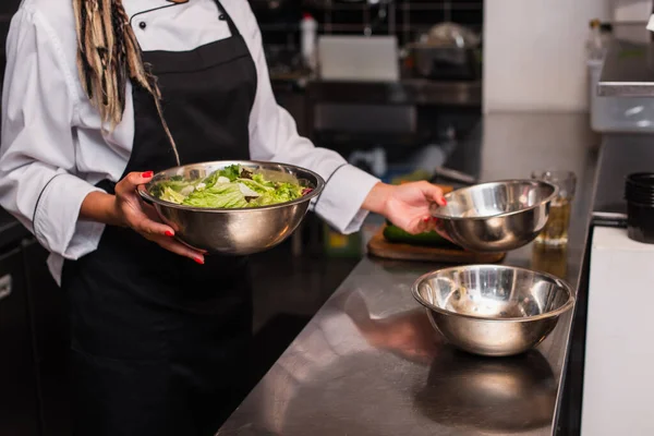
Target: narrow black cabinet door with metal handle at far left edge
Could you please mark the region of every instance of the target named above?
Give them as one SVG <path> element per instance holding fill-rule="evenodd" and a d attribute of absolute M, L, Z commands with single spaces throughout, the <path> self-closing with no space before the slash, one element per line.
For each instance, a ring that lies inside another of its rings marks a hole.
<path fill-rule="evenodd" d="M 0 435 L 38 436 L 37 378 L 20 247 L 0 256 Z"/>

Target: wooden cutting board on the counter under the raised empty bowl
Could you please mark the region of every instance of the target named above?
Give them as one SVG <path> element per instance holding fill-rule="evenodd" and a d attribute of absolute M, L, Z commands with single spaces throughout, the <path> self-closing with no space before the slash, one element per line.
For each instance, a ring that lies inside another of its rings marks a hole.
<path fill-rule="evenodd" d="M 446 264 L 495 264 L 507 255 L 506 253 L 473 253 L 464 250 L 388 242 L 384 238 L 384 228 L 371 239 L 367 250 L 373 256 L 388 259 Z"/>

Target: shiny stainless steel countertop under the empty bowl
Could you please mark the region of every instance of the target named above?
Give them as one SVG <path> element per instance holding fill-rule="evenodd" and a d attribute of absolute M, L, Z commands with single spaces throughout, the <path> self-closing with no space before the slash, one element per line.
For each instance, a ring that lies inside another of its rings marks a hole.
<path fill-rule="evenodd" d="M 471 141 L 483 180 L 577 172 L 565 274 L 576 287 L 596 164 L 588 116 L 487 116 Z M 505 263 L 531 266 L 532 247 Z M 471 356 L 440 339 L 410 294 L 437 267 L 363 259 L 218 435 L 552 434 L 572 312 L 525 355 Z"/>

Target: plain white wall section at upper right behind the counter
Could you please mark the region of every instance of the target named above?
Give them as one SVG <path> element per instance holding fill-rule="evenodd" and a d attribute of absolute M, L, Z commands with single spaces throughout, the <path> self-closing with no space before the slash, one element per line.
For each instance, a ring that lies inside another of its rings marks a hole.
<path fill-rule="evenodd" d="M 609 0 L 485 0 L 484 15 L 485 112 L 588 110 L 589 22 Z"/>

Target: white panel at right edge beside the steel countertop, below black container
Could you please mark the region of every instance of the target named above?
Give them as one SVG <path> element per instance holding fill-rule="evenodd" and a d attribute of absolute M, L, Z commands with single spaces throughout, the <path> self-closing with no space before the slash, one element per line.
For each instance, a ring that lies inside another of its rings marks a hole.
<path fill-rule="evenodd" d="M 582 436 L 650 436 L 654 245 L 595 227 L 591 249 Z"/>

